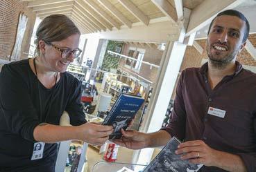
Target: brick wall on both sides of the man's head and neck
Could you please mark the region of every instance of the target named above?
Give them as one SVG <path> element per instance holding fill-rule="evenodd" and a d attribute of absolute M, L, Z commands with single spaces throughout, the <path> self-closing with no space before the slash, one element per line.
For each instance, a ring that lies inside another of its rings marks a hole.
<path fill-rule="evenodd" d="M 256 34 L 249 35 L 248 39 L 256 48 Z M 184 70 L 185 68 L 199 67 L 202 59 L 207 59 L 207 52 L 205 50 L 206 39 L 198 40 L 197 42 L 204 48 L 203 55 L 200 55 L 194 46 L 188 46 L 185 52 L 185 57 L 182 61 L 182 66 L 180 67 L 180 71 Z M 237 55 L 237 61 L 244 65 L 256 66 L 256 60 L 251 57 L 246 49 L 242 50 L 239 55 Z"/>

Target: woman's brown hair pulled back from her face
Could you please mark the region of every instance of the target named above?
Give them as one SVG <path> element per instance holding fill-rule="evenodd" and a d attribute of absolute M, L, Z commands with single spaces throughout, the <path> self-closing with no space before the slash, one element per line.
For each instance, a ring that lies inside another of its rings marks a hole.
<path fill-rule="evenodd" d="M 80 31 L 69 17 L 65 15 L 50 15 L 45 17 L 37 28 L 35 56 L 40 55 L 40 40 L 46 42 L 62 41 L 74 34 L 80 35 Z"/>

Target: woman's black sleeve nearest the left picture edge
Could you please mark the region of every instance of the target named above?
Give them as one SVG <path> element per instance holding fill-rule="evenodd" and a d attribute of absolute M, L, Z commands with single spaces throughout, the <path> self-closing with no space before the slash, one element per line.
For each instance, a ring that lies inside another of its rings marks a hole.
<path fill-rule="evenodd" d="M 21 73 L 15 66 L 3 66 L 0 73 L 1 113 L 6 121 L 6 130 L 35 142 L 33 131 L 40 122 Z"/>

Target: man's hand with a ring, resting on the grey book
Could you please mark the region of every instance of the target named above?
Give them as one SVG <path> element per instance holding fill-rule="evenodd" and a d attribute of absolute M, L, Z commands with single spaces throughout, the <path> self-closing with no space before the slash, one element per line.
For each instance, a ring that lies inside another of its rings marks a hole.
<path fill-rule="evenodd" d="M 191 163 L 204 164 L 205 166 L 216 166 L 218 160 L 217 151 L 210 148 L 202 140 L 181 143 L 176 153 L 185 153 L 181 156 L 182 160 L 189 160 Z"/>

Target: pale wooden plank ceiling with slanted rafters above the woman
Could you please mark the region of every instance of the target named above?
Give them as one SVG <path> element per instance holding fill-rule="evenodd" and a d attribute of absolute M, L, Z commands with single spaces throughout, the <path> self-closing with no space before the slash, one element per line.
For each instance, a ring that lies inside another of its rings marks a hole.
<path fill-rule="evenodd" d="M 37 17 L 53 14 L 67 15 L 82 34 L 132 28 L 133 23 L 148 26 L 151 19 L 168 17 L 177 21 L 176 0 L 20 0 L 36 12 Z M 183 0 L 183 6 L 195 8 L 203 0 Z M 165 12 L 161 5 L 168 5 L 173 11 Z"/>

